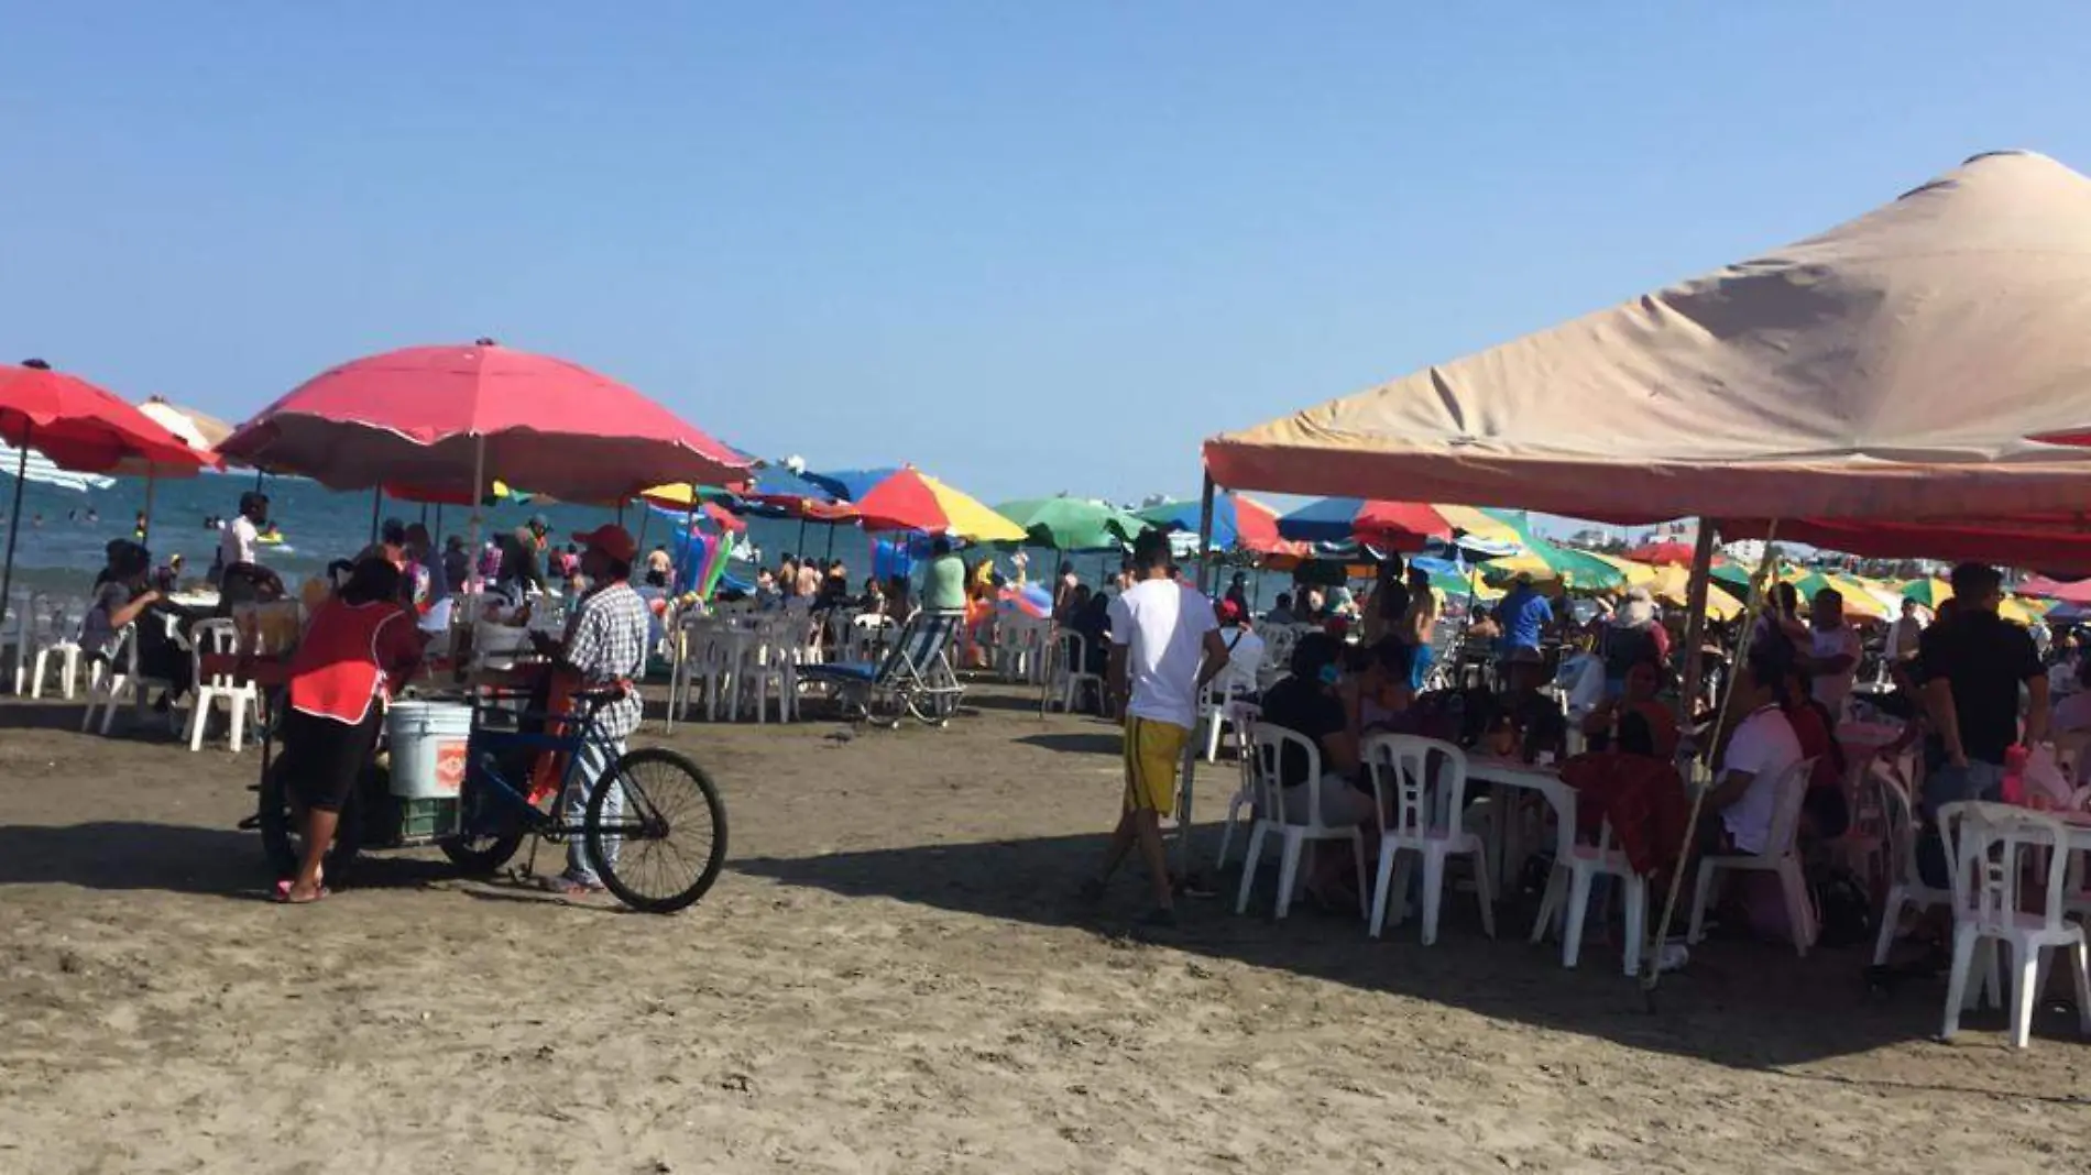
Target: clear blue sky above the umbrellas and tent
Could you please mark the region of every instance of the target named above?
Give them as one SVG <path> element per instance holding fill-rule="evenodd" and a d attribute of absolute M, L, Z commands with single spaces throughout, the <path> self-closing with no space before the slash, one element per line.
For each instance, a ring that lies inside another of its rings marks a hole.
<path fill-rule="evenodd" d="M 1978 151 L 2091 169 L 2081 2 L 0 0 L 0 29 L 8 360 L 240 418 L 493 335 L 989 500 L 1190 491 L 1211 433 Z"/>

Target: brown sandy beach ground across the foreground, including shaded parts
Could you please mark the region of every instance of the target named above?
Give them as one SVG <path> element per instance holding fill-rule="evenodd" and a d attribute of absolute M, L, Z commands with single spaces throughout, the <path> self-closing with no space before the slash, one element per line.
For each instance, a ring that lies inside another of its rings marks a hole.
<path fill-rule="evenodd" d="M 943 732 L 650 728 L 732 813 L 673 918 L 435 853 L 278 907 L 234 828 L 253 751 L 0 705 L 0 1171 L 2091 1167 L 2072 1024 L 1934 1043 L 1943 981 L 1869 995 L 1857 949 L 1708 943 L 1650 1012 L 1616 949 L 1526 945 L 1524 899 L 1489 941 L 1457 895 L 1430 949 L 1232 901 L 1127 937 L 1138 876 L 1073 899 L 1115 728 L 976 700 Z"/>

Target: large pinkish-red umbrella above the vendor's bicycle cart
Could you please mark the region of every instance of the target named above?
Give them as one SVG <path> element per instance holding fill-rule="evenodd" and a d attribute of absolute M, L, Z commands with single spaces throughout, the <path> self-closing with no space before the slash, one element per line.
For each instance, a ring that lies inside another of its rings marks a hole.
<path fill-rule="evenodd" d="M 734 483 L 749 458 L 579 364 L 500 347 L 406 347 L 320 372 L 220 452 L 330 489 L 414 485 L 477 500 L 493 477 L 562 502 Z"/>

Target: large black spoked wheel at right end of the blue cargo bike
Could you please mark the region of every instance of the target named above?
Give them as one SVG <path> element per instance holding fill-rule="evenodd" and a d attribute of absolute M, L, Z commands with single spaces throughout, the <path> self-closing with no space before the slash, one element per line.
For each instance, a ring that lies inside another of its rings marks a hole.
<path fill-rule="evenodd" d="M 629 751 L 596 780 L 581 834 L 602 884 L 646 914 L 673 914 L 705 897 L 726 866 L 719 788 L 665 746 Z"/>

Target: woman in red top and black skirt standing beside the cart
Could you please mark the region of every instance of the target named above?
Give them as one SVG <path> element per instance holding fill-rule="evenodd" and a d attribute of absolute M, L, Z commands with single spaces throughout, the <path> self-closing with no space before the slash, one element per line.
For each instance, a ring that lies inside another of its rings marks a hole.
<path fill-rule="evenodd" d="M 381 556 L 360 560 L 341 592 L 312 613 L 291 656 L 278 767 L 305 809 L 305 857 L 295 878 L 276 884 L 280 901 L 326 897 L 320 863 L 385 725 L 378 702 L 420 669 L 422 642 L 414 613 L 399 602 L 399 569 Z"/>

